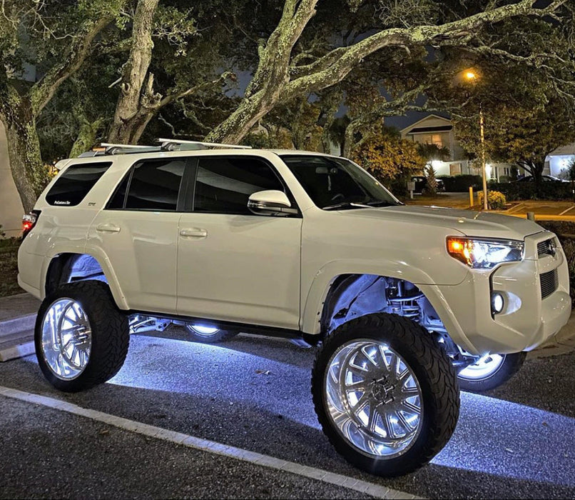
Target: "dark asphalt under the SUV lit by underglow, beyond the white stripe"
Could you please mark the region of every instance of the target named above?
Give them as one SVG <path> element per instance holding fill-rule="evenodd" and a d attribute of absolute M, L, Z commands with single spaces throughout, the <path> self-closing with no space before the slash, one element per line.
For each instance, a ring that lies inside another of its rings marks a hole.
<path fill-rule="evenodd" d="M 175 328 L 167 335 L 171 339 L 133 336 L 120 373 L 91 391 L 58 393 L 31 358 L 0 365 L 0 385 L 428 498 L 575 497 L 574 353 L 527 361 L 490 394 L 462 394 L 459 424 L 446 448 L 432 464 L 389 480 L 348 465 L 322 434 L 309 389 L 314 349 L 251 336 L 220 346 L 193 344 Z M 149 482 L 145 472 L 136 474 L 142 475 L 133 481 Z M 253 496 L 249 485 L 242 489 L 245 480 L 238 476 L 232 496 Z"/>

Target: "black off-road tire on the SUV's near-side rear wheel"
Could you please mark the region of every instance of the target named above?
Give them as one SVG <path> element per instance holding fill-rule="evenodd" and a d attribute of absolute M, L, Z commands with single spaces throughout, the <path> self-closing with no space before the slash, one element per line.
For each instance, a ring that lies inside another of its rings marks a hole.
<path fill-rule="evenodd" d="M 51 304 L 61 297 L 78 301 L 91 326 L 92 345 L 88 364 L 83 372 L 72 380 L 59 379 L 51 371 L 41 348 L 44 315 Z M 36 359 L 46 379 L 60 391 L 82 391 L 111 379 L 126 360 L 129 340 L 128 318 L 119 311 L 108 285 L 101 281 L 78 281 L 60 286 L 44 299 L 36 317 Z"/>

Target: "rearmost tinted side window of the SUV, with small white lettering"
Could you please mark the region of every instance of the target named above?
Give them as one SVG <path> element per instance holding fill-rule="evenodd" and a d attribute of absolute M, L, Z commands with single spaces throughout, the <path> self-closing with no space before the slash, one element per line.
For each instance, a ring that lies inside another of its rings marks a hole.
<path fill-rule="evenodd" d="M 46 194 L 46 201 L 51 205 L 77 205 L 111 164 L 111 161 L 106 161 L 69 166 Z"/>

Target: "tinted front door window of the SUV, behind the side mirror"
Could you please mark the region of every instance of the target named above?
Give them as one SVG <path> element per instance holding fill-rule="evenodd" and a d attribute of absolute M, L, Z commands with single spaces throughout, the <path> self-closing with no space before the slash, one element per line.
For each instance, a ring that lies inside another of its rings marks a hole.
<path fill-rule="evenodd" d="M 195 179 L 194 211 L 253 215 L 250 194 L 284 191 L 273 169 L 255 158 L 202 158 Z"/>

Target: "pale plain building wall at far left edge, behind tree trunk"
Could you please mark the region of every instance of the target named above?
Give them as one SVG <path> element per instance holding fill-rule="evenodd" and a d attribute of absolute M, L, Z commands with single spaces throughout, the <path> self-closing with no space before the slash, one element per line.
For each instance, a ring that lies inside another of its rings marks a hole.
<path fill-rule="evenodd" d="M 0 232 L 6 236 L 22 234 L 22 215 L 24 208 L 10 170 L 6 130 L 0 122 Z"/>

